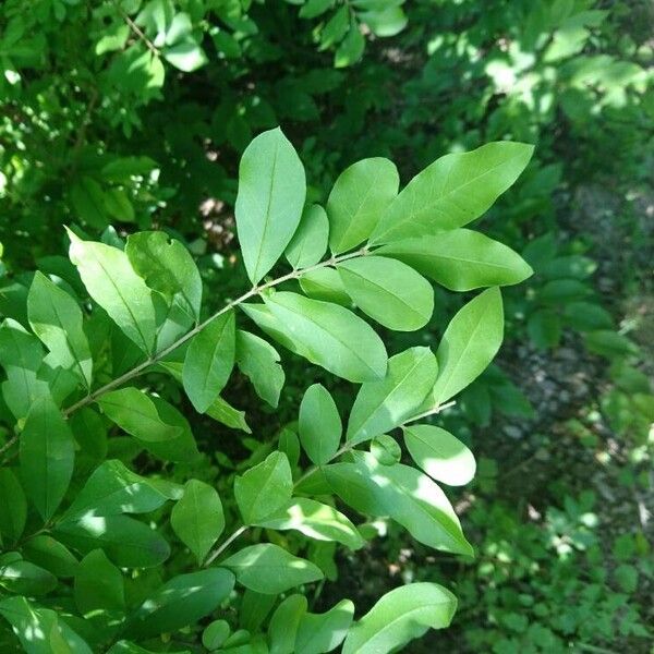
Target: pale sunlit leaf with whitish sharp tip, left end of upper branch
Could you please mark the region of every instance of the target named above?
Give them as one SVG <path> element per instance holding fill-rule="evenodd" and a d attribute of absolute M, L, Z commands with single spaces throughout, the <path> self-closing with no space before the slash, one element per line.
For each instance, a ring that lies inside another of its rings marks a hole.
<path fill-rule="evenodd" d="M 68 230 L 69 256 L 88 294 L 142 350 L 155 346 L 155 306 L 150 290 L 132 268 L 128 255 L 110 245 L 82 241 Z"/>

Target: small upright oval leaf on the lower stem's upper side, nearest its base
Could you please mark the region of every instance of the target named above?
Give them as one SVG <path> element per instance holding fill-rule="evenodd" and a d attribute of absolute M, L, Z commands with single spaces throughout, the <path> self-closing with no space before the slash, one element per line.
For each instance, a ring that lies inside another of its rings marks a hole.
<path fill-rule="evenodd" d="M 300 443 L 312 463 L 324 465 L 338 450 L 342 423 L 329 391 L 320 384 L 310 386 L 300 404 Z"/>

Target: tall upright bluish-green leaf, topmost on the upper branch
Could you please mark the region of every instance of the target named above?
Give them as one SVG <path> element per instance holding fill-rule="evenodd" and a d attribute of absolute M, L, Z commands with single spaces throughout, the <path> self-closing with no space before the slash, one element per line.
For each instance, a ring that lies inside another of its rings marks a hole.
<path fill-rule="evenodd" d="M 304 168 L 281 130 L 259 134 L 239 168 L 235 216 L 243 262 L 257 283 L 282 255 L 300 225 L 306 196 Z"/>

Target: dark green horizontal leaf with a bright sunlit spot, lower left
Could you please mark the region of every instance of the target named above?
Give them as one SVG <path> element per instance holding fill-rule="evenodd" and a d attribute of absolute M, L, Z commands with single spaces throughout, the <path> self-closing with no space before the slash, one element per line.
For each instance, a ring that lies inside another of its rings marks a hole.
<path fill-rule="evenodd" d="M 164 536 L 126 516 L 85 516 L 58 523 L 55 533 L 83 554 L 100 547 L 120 568 L 155 568 L 170 556 Z"/>

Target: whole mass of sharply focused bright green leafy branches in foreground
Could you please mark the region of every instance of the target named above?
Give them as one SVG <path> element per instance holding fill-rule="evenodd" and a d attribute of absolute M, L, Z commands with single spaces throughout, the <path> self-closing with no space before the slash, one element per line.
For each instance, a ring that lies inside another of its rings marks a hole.
<path fill-rule="evenodd" d="M 474 457 L 432 423 L 500 347 L 499 287 L 531 275 L 464 227 L 531 153 L 450 154 L 402 190 L 391 161 L 364 159 L 323 207 L 291 143 L 265 132 L 235 202 L 253 286 L 222 305 L 169 234 L 94 242 L 71 227 L 65 276 L 36 271 L 0 326 L 0 649 L 382 654 L 447 627 L 457 600 L 436 583 L 400 586 L 365 615 L 348 598 L 312 613 L 308 598 L 334 580 L 337 547 L 367 547 L 376 520 L 474 556 L 439 485 L 467 484 Z M 432 282 L 485 290 L 425 344 Z M 388 352 L 385 329 L 414 332 L 413 347 Z M 341 378 L 349 410 L 307 384 L 298 421 L 250 437 L 244 463 L 198 465 L 215 451 L 181 409 L 242 438 L 220 393 L 238 368 L 274 410 L 282 354 Z"/>

